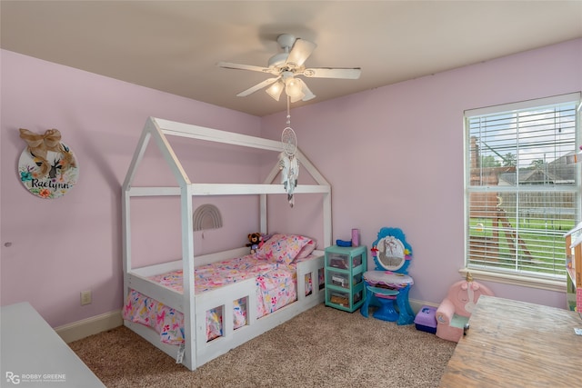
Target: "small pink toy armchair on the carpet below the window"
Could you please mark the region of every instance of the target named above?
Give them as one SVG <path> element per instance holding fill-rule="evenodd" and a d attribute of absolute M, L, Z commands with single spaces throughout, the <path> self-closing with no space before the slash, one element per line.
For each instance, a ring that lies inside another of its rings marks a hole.
<path fill-rule="evenodd" d="M 471 274 L 467 273 L 466 280 L 451 285 L 447 297 L 440 303 L 435 314 L 437 336 L 458 343 L 481 295 L 494 296 L 487 286 L 474 282 Z"/>

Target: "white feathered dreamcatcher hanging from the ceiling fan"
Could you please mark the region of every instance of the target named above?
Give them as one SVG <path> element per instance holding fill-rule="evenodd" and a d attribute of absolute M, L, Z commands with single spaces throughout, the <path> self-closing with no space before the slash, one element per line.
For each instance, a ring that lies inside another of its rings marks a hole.
<path fill-rule="evenodd" d="M 281 170 L 281 183 L 284 185 L 287 193 L 287 201 L 293 207 L 295 199 L 293 193 L 299 177 L 299 164 L 297 163 L 297 137 L 293 128 L 291 128 L 291 114 L 289 113 L 289 97 L 287 96 L 287 126 L 281 134 L 281 143 L 283 143 L 283 152 L 279 154 L 279 169 Z"/>

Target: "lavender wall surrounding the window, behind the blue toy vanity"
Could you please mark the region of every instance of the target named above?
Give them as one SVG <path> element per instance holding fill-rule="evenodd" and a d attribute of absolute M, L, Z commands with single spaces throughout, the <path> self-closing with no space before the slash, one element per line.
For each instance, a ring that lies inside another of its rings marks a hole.
<path fill-rule="evenodd" d="M 410 296 L 439 303 L 464 260 L 463 111 L 580 90 L 577 39 L 298 108 L 291 122 L 332 184 L 334 241 L 357 227 L 369 245 L 382 226 L 401 227 L 415 254 Z M 263 135 L 276 138 L 284 123 L 285 114 L 264 117 Z M 487 285 L 499 296 L 566 306 L 564 293 Z"/>

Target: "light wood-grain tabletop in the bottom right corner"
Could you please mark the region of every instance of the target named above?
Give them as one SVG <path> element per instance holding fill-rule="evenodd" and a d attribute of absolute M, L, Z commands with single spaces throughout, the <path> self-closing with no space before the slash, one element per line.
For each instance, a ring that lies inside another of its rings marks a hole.
<path fill-rule="evenodd" d="M 578 313 L 481 296 L 469 325 L 440 387 L 582 386 Z"/>

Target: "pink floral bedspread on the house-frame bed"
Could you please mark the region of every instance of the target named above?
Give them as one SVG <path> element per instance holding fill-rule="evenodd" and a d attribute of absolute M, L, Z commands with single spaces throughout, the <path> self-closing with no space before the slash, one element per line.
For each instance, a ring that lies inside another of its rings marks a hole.
<path fill-rule="evenodd" d="M 254 255 L 246 255 L 223 262 L 206 264 L 196 268 L 195 293 L 222 287 L 226 284 L 256 278 L 257 317 L 273 313 L 288 303 L 296 301 L 296 263 L 267 262 Z M 151 280 L 183 291 L 182 270 L 152 276 Z M 311 282 L 306 282 L 306 293 L 311 291 Z M 160 333 L 164 343 L 184 342 L 184 315 L 156 300 L 131 290 L 123 310 L 124 319 L 142 323 Z M 246 305 L 236 301 L 234 309 L 235 328 L 246 324 Z M 222 335 L 222 316 L 218 309 L 206 312 L 207 340 Z"/>

